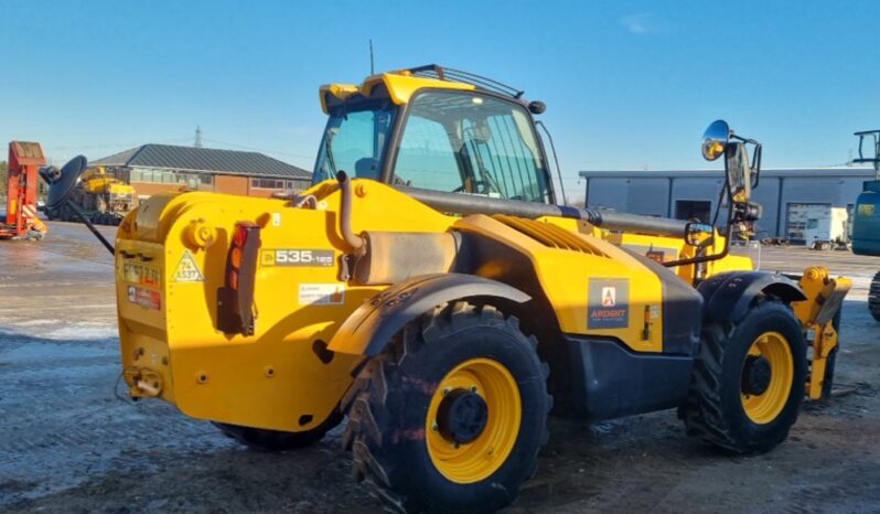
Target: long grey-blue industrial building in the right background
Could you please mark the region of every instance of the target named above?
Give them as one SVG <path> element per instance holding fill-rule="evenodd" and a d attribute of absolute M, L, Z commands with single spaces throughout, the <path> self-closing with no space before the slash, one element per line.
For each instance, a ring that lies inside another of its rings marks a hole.
<path fill-rule="evenodd" d="M 581 171 L 591 207 L 710 221 L 723 185 L 723 170 Z M 816 231 L 846 236 L 852 205 L 872 168 L 830 167 L 762 170 L 752 200 L 763 206 L 758 237 L 795 244 L 823 239 Z M 723 219 L 723 217 L 722 217 Z"/>

